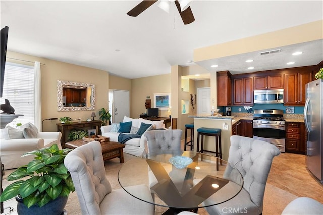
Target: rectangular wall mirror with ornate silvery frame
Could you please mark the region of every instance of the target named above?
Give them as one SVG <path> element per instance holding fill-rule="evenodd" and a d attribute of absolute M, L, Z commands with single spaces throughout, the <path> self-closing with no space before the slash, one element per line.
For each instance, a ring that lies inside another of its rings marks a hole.
<path fill-rule="evenodd" d="M 94 109 L 94 84 L 57 80 L 58 111 L 83 111 Z"/>

